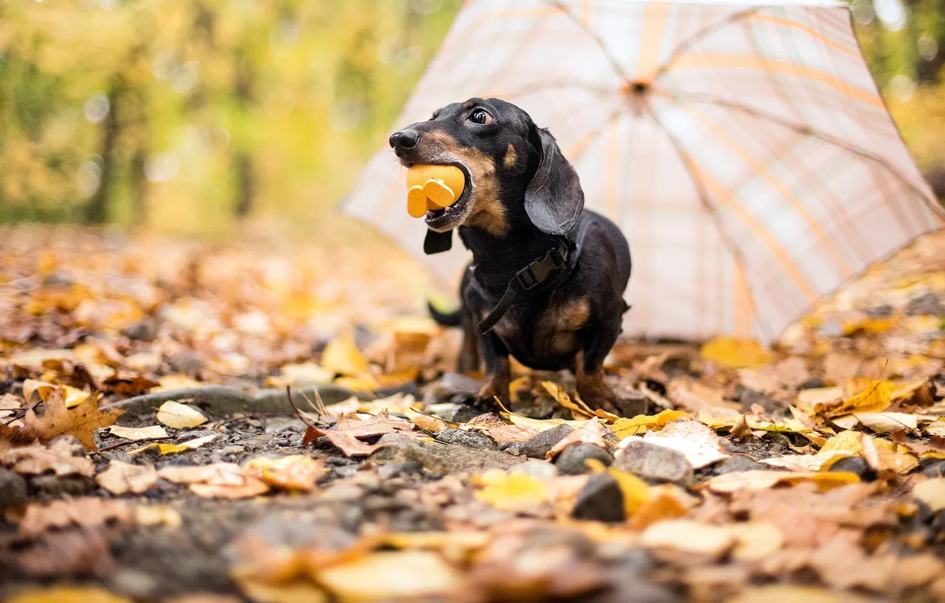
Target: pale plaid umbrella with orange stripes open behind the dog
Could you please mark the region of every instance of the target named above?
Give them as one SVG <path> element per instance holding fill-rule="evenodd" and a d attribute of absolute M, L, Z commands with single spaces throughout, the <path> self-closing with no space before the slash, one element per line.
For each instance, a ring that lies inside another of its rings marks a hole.
<path fill-rule="evenodd" d="M 471 96 L 558 138 L 633 254 L 625 334 L 770 341 L 945 223 L 885 109 L 847 4 L 472 0 L 397 127 Z M 344 207 L 423 256 L 389 149 Z"/>

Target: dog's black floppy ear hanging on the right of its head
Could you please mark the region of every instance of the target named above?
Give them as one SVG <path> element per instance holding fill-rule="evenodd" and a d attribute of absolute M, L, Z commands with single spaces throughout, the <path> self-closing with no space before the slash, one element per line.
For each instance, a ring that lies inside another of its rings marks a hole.
<path fill-rule="evenodd" d="M 584 208 L 584 192 L 575 168 L 564 159 L 555 137 L 539 129 L 541 160 L 525 189 L 525 213 L 543 233 L 570 233 Z"/>

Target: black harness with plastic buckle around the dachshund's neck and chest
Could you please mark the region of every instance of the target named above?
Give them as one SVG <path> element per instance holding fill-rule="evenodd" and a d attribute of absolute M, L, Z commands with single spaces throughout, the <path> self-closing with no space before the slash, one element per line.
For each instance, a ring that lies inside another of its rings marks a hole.
<path fill-rule="evenodd" d="M 479 267 L 471 266 L 472 284 L 480 290 L 495 291 L 505 287 L 502 299 L 477 325 L 479 331 L 483 334 L 489 333 L 513 305 L 525 302 L 539 292 L 553 290 L 568 278 L 577 265 L 577 258 L 584 248 L 584 239 L 592 222 L 593 220 L 589 219 L 580 220 L 574 240 L 561 237 L 556 247 L 547 250 L 543 256 L 519 270 L 487 273 Z"/>

